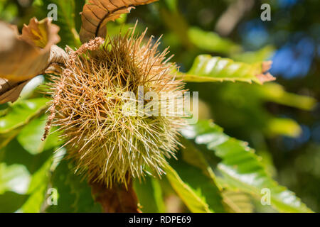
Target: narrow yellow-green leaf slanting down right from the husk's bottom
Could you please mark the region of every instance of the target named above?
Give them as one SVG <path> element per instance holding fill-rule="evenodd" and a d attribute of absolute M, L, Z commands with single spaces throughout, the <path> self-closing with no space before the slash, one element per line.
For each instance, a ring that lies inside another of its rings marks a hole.
<path fill-rule="evenodd" d="M 188 184 L 183 182 L 178 173 L 171 166 L 166 166 L 166 177 L 176 194 L 186 204 L 188 209 L 193 213 L 210 213 L 208 204 L 203 197 L 199 196 Z"/>

